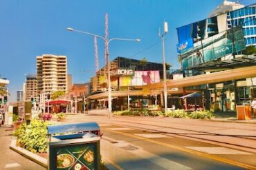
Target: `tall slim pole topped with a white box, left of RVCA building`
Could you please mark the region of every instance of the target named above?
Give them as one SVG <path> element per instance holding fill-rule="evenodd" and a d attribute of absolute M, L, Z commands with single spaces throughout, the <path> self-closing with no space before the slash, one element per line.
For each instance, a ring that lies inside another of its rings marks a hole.
<path fill-rule="evenodd" d="M 167 86 L 166 86 L 166 65 L 165 65 L 165 41 L 164 36 L 168 32 L 167 22 L 163 23 L 163 34 L 159 30 L 159 36 L 162 39 L 162 50 L 163 50 L 163 96 L 165 98 L 165 113 L 167 113 Z"/>

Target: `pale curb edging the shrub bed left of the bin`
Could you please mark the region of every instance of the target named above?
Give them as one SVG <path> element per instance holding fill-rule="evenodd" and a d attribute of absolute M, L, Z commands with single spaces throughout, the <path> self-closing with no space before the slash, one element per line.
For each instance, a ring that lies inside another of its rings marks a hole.
<path fill-rule="evenodd" d="M 17 147 L 16 146 L 17 139 L 12 138 L 12 141 L 10 142 L 10 149 L 13 151 L 16 151 L 17 153 L 21 154 L 22 156 L 32 160 L 33 162 L 36 162 L 37 164 L 40 164 L 42 167 L 47 168 L 48 167 L 48 161 L 46 158 L 42 158 L 41 156 L 37 156 L 37 154 L 32 153 L 24 148 Z"/>

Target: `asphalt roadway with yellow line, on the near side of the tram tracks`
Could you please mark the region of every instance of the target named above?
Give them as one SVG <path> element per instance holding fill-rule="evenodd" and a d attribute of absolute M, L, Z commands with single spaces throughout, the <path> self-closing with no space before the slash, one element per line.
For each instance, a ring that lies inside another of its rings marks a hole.
<path fill-rule="evenodd" d="M 99 123 L 103 132 L 100 151 L 105 163 L 111 165 L 110 169 L 256 169 L 255 152 L 158 130 L 116 125 L 104 117 L 71 116 L 68 119 Z M 133 117 L 127 121 L 132 123 Z"/>

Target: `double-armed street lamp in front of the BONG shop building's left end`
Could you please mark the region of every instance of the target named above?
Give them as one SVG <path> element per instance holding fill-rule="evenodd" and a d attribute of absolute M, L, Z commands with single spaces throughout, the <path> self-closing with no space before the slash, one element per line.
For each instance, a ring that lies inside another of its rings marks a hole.
<path fill-rule="evenodd" d="M 100 39 L 102 39 L 104 41 L 104 43 L 106 43 L 106 55 L 107 55 L 107 80 L 108 80 L 108 103 L 109 103 L 109 118 L 111 118 L 111 111 L 112 111 L 112 100 L 111 100 L 111 79 L 110 79 L 110 60 L 109 60 L 109 43 L 113 40 L 119 40 L 119 41 L 137 41 L 139 42 L 140 39 L 120 39 L 120 38 L 113 38 L 113 39 L 105 39 L 103 36 L 100 36 L 98 34 L 92 34 L 90 32 L 84 32 L 84 31 L 80 31 L 80 30 L 75 30 L 73 28 L 66 28 L 67 31 L 73 31 L 73 32 L 79 32 L 82 34 L 88 34 L 91 36 L 96 36 L 99 37 Z"/>

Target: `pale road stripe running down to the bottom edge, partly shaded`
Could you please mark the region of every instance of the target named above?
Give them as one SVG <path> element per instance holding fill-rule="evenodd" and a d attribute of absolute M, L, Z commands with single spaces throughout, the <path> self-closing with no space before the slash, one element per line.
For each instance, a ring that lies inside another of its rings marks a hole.
<path fill-rule="evenodd" d="M 155 155 L 155 154 L 145 151 L 143 149 L 137 149 L 137 150 L 129 151 L 129 152 L 133 153 L 134 155 L 136 155 L 140 158 L 148 160 L 149 162 L 152 162 L 152 163 L 158 165 L 159 167 L 163 167 L 164 169 L 170 169 L 171 167 L 172 167 L 172 169 L 176 169 L 176 170 L 191 169 L 190 167 L 186 167 L 183 164 L 179 164 L 172 160 L 168 160 L 166 158 Z"/>

